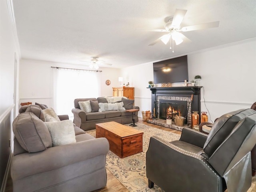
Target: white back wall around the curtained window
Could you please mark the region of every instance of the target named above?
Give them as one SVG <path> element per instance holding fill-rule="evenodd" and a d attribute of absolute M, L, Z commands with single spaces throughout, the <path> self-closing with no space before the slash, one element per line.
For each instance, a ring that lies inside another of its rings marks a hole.
<path fill-rule="evenodd" d="M 20 61 L 20 103 L 29 101 L 33 104 L 37 102 L 46 104 L 48 107 L 54 107 L 53 70 L 56 69 L 52 69 L 51 66 L 89 69 L 83 65 L 22 59 Z M 118 77 L 120 75 L 120 69 L 100 68 L 98 70 L 102 71 L 100 73 L 101 93 L 99 96 L 112 96 L 112 87 L 119 86 Z M 111 81 L 110 85 L 106 85 L 105 82 L 107 79 Z"/>

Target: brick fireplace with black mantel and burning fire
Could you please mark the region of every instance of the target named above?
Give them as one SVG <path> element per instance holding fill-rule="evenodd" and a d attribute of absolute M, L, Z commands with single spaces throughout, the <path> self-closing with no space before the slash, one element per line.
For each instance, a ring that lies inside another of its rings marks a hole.
<path fill-rule="evenodd" d="M 155 119 L 166 119 L 167 107 L 171 105 L 174 108 L 173 115 L 186 116 L 189 127 L 191 112 L 198 111 L 199 115 L 201 113 L 201 87 L 150 87 L 148 89 L 151 90 L 151 109 L 152 112 L 155 111 L 153 114 Z"/>

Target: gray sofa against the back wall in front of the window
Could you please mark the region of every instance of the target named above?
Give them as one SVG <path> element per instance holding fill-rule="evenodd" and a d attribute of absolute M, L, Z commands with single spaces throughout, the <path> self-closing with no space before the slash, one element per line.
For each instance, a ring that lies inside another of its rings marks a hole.
<path fill-rule="evenodd" d="M 98 103 L 108 103 L 107 99 L 104 97 L 96 98 L 85 98 L 85 99 L 75 99 L 74 109 L 72 113 L 74 114 L 73 123 L 83 129 L 84 131 L 95 129 L 96 123 L 104 123 L 109 121 L 115 121 L 121 124 L 128 124 L 138 122 L 138 111 L 134 113 L 126 112 L 125 110 L 120 111 L 102 111 L 102 112 L 90 112 L 86 113 L 80 109 L 79 101 L 98 101 Z M 134 100 L 122 99 L 125 109 L 140 109 L 138 106 L 134 106 L 132 103 Z"/>

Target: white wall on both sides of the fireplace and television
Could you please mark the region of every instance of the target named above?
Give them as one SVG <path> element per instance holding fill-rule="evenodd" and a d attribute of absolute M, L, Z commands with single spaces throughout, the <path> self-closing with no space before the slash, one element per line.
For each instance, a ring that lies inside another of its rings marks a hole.
<path fill-rule="evenodd" d="M 256 39 L 252 39 L 188 54 L 189 81 L 202 76 L 201 111 L 209 110 L 212 121 L 230 111 L 250 108 L 256 101 L 255 50 Z M 146 87 L 153 80 L 152 63 L 124 68 L 122 75 L 135 87 L 135 105 L 141 111 L 150 110 L 151 92 Z"/>

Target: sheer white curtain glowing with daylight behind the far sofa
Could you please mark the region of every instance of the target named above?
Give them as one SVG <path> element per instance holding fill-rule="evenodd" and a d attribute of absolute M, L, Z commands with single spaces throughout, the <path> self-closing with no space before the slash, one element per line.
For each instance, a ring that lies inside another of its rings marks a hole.
<path fill-rule="evenodd" d="M 100 96 L 100 72 L 76 69 L 53 69 L 54 110 L 58 115 L 74 115 L 74 99 Z"/>

